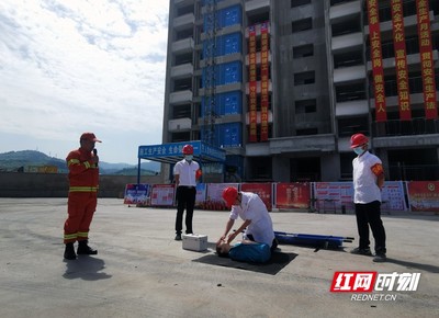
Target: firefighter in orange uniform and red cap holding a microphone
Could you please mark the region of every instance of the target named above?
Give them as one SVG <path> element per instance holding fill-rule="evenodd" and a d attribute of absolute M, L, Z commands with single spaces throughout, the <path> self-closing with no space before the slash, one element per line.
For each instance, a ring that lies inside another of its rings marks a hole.
<path fill-rule="evenodd" d="M 78 241 L 78 254 L 97 254 L 88 246 L 90 224 L 98 204 L 99 157 L 95 141 L 101 143 L 93 133 L 83 133 L 79 139 L 80 148 L 70 151 L 66 161 L 69 170 L 68 217 L 64 224 L 66 260 L 76 260 L 74 243 Z"/>

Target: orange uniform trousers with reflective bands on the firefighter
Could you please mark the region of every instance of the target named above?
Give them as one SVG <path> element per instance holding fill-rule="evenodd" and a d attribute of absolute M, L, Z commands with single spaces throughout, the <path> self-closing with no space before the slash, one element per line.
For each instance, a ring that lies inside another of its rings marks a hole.
<path fill-rule="evenodd" d="M 64 243 L 87 240 L 98 204 L 97 192 L 69 192 Z"/>

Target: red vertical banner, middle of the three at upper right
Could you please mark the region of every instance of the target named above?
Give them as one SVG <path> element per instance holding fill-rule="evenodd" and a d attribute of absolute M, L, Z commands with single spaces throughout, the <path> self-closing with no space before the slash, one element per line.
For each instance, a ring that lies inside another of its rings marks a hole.
<path fill-rule="evenodd" d="M 407 53 L 405 49 L 403 0 L 392 0 L 393 46 L 395 48 L 396 84 L 398 90 L 399 118 L 412 121 L 408 86 Z"/>

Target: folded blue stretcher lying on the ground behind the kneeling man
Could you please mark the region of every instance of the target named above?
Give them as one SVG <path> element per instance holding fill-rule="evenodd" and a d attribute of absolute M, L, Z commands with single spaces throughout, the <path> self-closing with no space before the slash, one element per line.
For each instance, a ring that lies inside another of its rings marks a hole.
<path fill-rule="evenodd" d="M 324 249 L 339 249 L 344 242 L 352 242 L 352 237 L 292 234 L 284 231 L 274 231 L 274 236 L 280 245 L 312 246 Z"/>

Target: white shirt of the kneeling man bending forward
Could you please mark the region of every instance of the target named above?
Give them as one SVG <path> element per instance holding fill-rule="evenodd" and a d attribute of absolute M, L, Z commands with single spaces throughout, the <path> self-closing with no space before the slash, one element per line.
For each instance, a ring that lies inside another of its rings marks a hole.
<path fill-rule="evenodd" d="M 251 219 L 246 235 L 251 234 L 255 241 L 271 247 L 274 239 L 273 223 L 266 204 L 256 193 L 240 193 L 243 195 L 240 205 L 232 205 L 230 219 L 237 219 L 238 216 L 244 220 Z"/>

